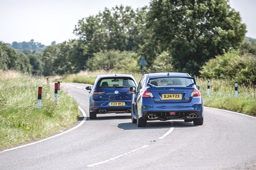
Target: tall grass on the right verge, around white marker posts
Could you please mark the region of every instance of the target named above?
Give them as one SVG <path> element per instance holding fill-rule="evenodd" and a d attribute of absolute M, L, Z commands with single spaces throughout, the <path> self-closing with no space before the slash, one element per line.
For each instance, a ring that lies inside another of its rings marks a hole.
<path fill-rule="evenodd" d="M 253 86 L 238 84 L 238 97 L 235 98 L 234 80 L 196 80 L 205 106 L 256 115 L 256 89 Z M 210 96 L 207 96 L 207 81 L 210 81 Z"/>

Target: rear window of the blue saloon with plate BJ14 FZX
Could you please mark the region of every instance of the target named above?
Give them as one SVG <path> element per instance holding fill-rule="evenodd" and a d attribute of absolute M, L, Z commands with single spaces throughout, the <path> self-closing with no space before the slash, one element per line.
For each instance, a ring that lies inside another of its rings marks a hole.
<path fill-rule="evenodd" d="M 161 77 L 150 78 L 148 83 L 154 86 L 187 86 L 194 81 L 189 78 L 173 78 L 173 77 Z"/>

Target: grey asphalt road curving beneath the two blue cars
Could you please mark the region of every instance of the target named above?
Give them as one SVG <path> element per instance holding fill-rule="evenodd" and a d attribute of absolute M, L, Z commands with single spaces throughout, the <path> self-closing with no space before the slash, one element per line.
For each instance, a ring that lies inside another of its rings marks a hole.
<path fill-rule="evenodd" d="M 89 116 L 86 84 L 62 83 Z M 0 169 L 256 169 L 256 118 L 204 109 L 204 124 L 86 116 L 44 141 L 0 151 Z"/>

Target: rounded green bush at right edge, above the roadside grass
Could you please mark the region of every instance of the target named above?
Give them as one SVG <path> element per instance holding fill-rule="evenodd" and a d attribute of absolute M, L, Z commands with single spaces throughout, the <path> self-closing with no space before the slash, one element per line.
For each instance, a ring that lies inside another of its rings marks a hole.
<path fill-rule="evenodd" d="M 230 51 L 216 56 L 202 66 L 201 76 L 207 79 L 233 79 L 239 83 L 256 84 L 256 58 L 239 56 L 238 51 Z M 251 85 L 251 84 L 248 84 Z"/>

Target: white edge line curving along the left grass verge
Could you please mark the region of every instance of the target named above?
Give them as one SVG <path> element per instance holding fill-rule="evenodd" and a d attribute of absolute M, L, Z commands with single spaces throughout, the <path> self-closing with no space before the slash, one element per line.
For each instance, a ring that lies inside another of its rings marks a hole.
<path fill-rule="evenodd" d="M 65 133 L 68 133 L 68 132 L 70 132 L 70 131 L 73 131 L 73 130 L 77 129 L 79 126 L 83 125 L 84 122 L 86 121 L 86 114 L 85 114 L 84 110 L 83 110 L 80 106 L 78 106 L 78 108 L 79 108 L 79 110 L 82 112 L 84 118 L 83 118 L 83 120 L 82 120 L 78 125 L 74 126 L 73 128 L 71 128 L 71 129 L 69 129 L 69 130 L 67 130 L 67 131 L 65 131 L 65 132 L 59 133 L 59 134 L 57 134 L 57 135 L 54 135 L 54 136 L 52 136 L 52 137 L 45 138 L 45 139 L 43 139 L 43 140 L 39 140 L 39 141 L 36 141 L 36 142 L 33 142 L 33 143 L 28 143 L 28 144 L 26 144 L 26 145 L 22 145 L 22 146 L 10 148 L 10 149 L 5 149 L 5 150 L 3 150 L 3 151 L 0 151 L 0 153 L 6 152 L 6 151 L 10 151 L 10 150 L 14 150 L 14 149 L 19 149 L 19 148 L 27 147 L 27 146 L 30 146 L 30 145 L 35 145 L 36 143 L 40 143 L 40 142 L 43 142 L 43 141 L 46 141 L 46 140 L 49 140 L 49 139 L 52 139 L 52 138 L 55 138 L 55 137 L 59 137 L 59 136 L 62 135 L 62 134 L 65 134 Z"/>

